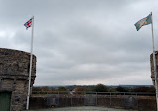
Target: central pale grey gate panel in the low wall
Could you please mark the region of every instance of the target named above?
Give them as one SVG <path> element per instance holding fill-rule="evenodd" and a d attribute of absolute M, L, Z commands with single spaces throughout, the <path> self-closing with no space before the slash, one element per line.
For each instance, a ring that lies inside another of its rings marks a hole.
<path fill-rule="evenodd" d="M 84 105 L 86 106 L 96 106 L 97 96 L 96 94 L 86 94 L 84 98 Z"/>

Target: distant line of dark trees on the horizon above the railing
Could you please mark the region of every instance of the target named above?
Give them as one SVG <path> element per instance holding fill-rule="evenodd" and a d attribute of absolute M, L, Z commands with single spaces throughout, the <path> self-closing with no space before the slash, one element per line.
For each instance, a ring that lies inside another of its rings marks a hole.
<path fill-rule="evenodd" d="M 42 87 L 33 87 L 33 92 L 66 92 L 72 91 L 74 93 L 77 92 L 148 92 L 148 93 L 155 93 L 154 86 L 139 86 L 139 87 L 109 87 L 104 84 L 97 84 L 92 86 L 59 86 L 59 87 L 49 87 L 49 86 L 42 86 Z"/>

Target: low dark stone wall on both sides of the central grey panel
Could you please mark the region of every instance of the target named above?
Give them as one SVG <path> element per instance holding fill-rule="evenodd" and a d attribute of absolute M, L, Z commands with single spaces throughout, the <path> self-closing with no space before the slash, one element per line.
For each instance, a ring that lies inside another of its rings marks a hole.
<path fill-rule="evenodd" d="M 127 99 L 129 97 L 129 99 Z M 134 97 L 135 101 L 130 99 Z M 55 101 L 50 101 L 57 99 Z M 127 101 L 126 101 L 127 100 Z M 70 107 L 70 106 L 87 106 L 85 104 L 85 95 L 32 95 L 30 98 L 31 109 L 46 109 L 51 107 Z M 155 96 L 96 96 L 94 106 L 104 106 L 109 108 L 134 109 L 138 111 L 156 111 Z"/>

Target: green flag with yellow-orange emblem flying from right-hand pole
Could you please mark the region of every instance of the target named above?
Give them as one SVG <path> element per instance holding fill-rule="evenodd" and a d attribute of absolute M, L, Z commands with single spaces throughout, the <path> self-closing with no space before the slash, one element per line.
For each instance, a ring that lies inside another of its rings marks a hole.
<path fill-rule="evenodd" d="M 135 23 L 134 25 L 136 26 L 137 31 L 144 25 L 148 25 L 152 23 L 152 14 L 149 14 L 147 17 L 139 20 L 137 23 Z"/>

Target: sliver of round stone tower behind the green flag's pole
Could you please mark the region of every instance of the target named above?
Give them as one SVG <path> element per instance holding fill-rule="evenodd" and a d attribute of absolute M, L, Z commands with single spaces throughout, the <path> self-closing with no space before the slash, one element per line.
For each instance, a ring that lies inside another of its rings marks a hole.
<path fill-rule="evenodd" d="M 157 74 L 158 74 L 158 51 L 155 52 L 155 60 L 156 60 L 156 69 L 157 69 Z M 151 66 L 151 79 L 152 79 L 153 85 L 155 85 L 153 54 L 150 55 L 150 66 Z M 158 80 L 158 77 L 157 77 L 157 80 Z"/>

